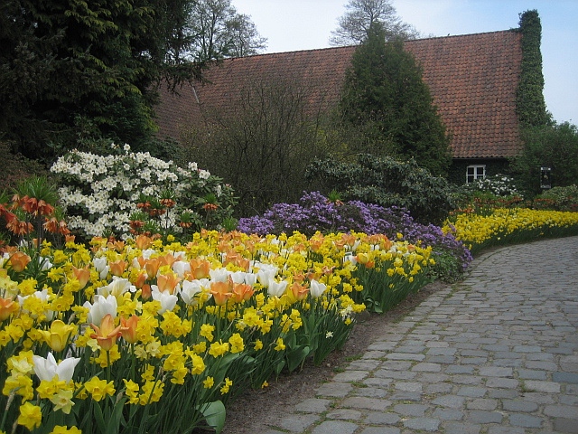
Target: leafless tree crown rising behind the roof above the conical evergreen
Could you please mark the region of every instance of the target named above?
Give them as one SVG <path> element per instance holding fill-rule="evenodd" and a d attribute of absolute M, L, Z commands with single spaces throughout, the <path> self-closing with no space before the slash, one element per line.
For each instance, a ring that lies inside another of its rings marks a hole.
<path fill-rule="evenodd" d="M 333 46 L 355 45 L 365 41 L 369 29 L 375 24 L 380 24 L 384 29 L 387 41 L 419 37 L 414 26 L 404 23 L 397 16 L 391 0 L 350 0 L 345 9 L 347 12 L 338 20 L 339 27 L 331 32 L 330 43 Z"/>

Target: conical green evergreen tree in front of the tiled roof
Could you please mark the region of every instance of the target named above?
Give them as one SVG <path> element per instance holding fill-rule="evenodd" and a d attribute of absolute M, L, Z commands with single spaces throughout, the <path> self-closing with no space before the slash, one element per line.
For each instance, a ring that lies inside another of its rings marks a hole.
<path fill-rule="evenodd" d="M 341 117 L 365 139 L 358 152 L 414 157 L 433 175 L 445 175 L 452 161 L 449 137 L 422 70 L 402 41 L 385 42 L 384 33 L 373 24 L 354 52 Z"/>

